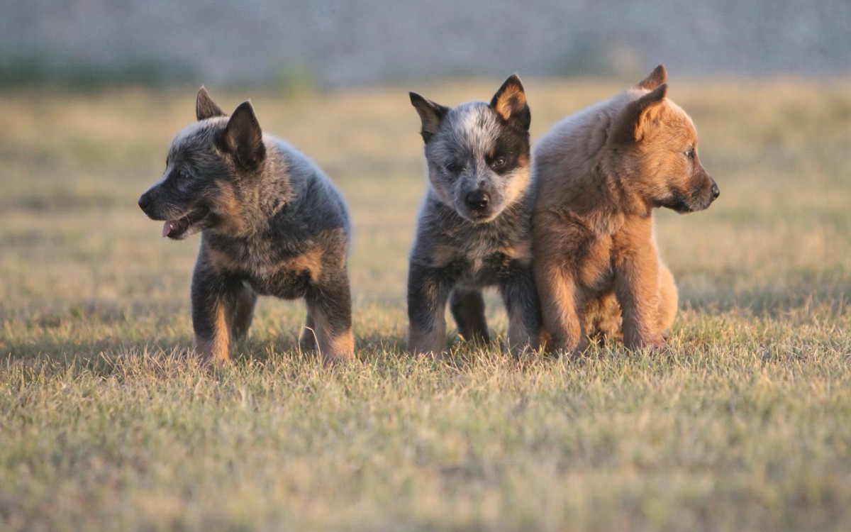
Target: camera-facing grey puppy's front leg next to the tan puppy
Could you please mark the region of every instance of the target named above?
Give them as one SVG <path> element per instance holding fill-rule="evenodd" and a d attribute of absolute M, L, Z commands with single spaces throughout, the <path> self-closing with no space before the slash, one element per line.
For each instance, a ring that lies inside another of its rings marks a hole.
<path fill-rule="evenodd" d="M 531 265 L 517 264 L 516 272 L 500 283 L 502 300 L 508 314 L 508 346 L 515 358 L 524 349 L 540 344 L 540 299 L 535 288 Z"/>

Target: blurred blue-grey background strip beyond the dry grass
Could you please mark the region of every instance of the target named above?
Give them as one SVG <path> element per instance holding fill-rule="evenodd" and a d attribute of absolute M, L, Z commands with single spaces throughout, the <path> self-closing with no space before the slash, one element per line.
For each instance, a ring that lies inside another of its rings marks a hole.
<path fill-rule="evenodd" d="M 851 72 L 851 0 L 0 0 L 0 84 Z"/>

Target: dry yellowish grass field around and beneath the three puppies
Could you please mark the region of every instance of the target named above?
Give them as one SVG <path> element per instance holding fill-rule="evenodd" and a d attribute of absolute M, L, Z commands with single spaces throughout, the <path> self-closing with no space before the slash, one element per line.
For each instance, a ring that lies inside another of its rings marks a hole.
<path fill-rule="evenodd" d="M 425 190 L 415 89 L 252 98 L 339 184 L 357 363 L 261 300 L 236 361 L 186 358 L 198 238 L 136 199 L 195 89 L 0 94 L 0 529 L 851 529 L 851 83 L 685 83 L 711 209 L 661 212 L 671 353 L 403 352 Z M 533 140 L 619 83 L 525 80 Z M 490 295 L 489 319 L 505 314 Z"/>

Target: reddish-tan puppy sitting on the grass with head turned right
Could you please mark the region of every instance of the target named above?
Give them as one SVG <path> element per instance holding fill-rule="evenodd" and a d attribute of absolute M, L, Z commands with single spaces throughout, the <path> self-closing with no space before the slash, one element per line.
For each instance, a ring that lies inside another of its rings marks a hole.
<path fill-rule="evenodd" d="M 578 354 L 587 335 L 664 346 L 677 286 L 654 242 L 653 209 L 718 197 L 691 118 L 665 98 L 667 72 L 558 123 L 534 152 L 534 275 L 548 346 Z"/>

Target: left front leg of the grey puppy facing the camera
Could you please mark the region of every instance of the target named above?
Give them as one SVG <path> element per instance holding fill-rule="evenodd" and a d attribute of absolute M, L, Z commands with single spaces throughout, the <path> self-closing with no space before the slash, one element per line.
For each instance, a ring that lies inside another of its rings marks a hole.
<path fill-rule="evenodd" d="M 411 262 L 408 268 L 408 352 L 439 357 L 446 348 L 446 300 L 452 287 L 446 272 Z"/>

